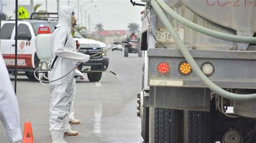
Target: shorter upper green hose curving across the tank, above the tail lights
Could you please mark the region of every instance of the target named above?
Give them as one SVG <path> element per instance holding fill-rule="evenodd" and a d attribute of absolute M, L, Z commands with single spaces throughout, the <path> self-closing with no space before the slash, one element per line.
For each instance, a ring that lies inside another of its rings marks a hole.
<path fill-rule="evenodd" d="M 232 35 L 232 34 L 226 34 L 221 33 L 218 31 L 210 30 L 208 28 L 205 28 L 203 26 L 197 25 L 195 23 L 190 22 L 190 20 L 187 20 L 186 18 L 180 16 L 178 13 L 176 13 L 174 10 L 170 8 L 165 2 L 157 1 L 157 3 L 163 8 L 164 11 L 166 11 L 169 15 L 171 15 L 174 19 L 176 19 L 181 24 L 191 28 L 194 31 L 203 33 L 205 35 L 226 40 L 226 41 L 232 41 L 232 42 L 240 42 L 240 43 L 250 43 L 250 44 L 256 44 L 256 38 L 255 37 L 244 37 L 244 36 L 238 36 L 238 35 Z"/>

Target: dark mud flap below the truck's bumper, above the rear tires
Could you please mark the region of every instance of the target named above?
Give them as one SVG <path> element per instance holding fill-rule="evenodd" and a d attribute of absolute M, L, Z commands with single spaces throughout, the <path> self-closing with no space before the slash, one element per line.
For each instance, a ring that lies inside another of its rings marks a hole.
<path fill-rule="evenodd" d="M 191 111 L 210 111 L 207 88 L 150 87 L 150 107 Z"/>

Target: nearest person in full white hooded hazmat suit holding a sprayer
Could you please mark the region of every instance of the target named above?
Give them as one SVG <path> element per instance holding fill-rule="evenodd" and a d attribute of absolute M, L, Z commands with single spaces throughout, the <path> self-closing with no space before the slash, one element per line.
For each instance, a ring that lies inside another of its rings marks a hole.
<path fill-rule="evenodd" d="M 71 71 L 78 62 L 87 62 L 90 56 L 76 52 L 76 42 L 71 35 L 71 17 L 75 15 L 70 6 L 60 6 L 59 22 L 52 33 L 52 54 L 56 59 L 49 71 L 49 80 L 56 80 Z M 54 60 L 52 60 L 54 61 Z M 52 142 L 66 142 L 64 140 L 64 124 L 69 114 L 69 97 L 75 70 L 64 78 L 50 82 L 50 131 Z"/>

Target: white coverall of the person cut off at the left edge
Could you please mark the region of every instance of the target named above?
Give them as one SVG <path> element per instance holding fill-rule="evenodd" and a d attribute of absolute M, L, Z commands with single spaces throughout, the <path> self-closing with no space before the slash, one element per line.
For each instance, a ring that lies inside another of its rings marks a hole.
<path fill-rule="evenodd" d="M 10 142 L 22 140 L 19 106 L 10 77 L 0 53 L 0 119 Z"/>

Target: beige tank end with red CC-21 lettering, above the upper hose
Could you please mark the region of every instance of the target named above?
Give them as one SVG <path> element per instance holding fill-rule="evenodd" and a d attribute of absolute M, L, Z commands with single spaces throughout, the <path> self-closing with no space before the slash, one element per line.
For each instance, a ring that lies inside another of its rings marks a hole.
<path fill-rule="evenodd" d="M 256 1 L 166 0 L 171 7 L 185 5 L 199 16 L 235 31 L 256 32 Z"/>

